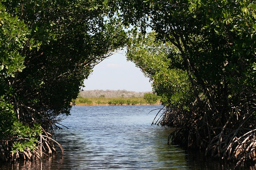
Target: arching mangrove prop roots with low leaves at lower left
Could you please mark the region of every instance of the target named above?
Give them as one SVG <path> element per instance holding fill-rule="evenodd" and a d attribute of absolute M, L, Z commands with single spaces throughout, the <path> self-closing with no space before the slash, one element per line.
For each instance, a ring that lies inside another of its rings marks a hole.
<path fill-rule="evenodd" d="M 28 107 L 18 101 L 14 101 L 14 107 L 16 110 L 16 117 L 18 122 L 22 125 L 26 125 L 30 128 L 35 128 L 40 125 L 41 128 L 37 129 L 33 139 L 26 136 L 26 138 L 20 137 L 16 134 L 10 134 L 6 138 L 0 140 L 0 162 L 6 162 L 11 160 L 33 160 L 42 158 L 43 156 L 50 156 L 56 152 L 54 144 L 57 144 L 63 151 L 62 146 L 54 140 L 54 132 L 60 129 L 56 124 L 64 119 L 65 115 L 56 116 L 56 113 L 50 111 L 38 111 L 34 108 Z M 58 124 L 59 125 L 59 124 Z M 40 133 L 39 133 L 40 132 Z M 38 138 L 36 142 L 30 142 L 30 139 L 34 140 Z M 28 145 L 26 145 L 28 143 Z M 23 145 L 24 144 L 24 145 Z M 22 146 L 22 147 L 19 147 Z"/>

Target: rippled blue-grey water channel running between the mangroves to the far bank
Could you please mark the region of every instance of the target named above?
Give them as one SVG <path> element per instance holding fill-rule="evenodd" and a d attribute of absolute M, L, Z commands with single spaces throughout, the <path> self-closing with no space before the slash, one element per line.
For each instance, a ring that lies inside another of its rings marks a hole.
<path fill-rule="evenodd" d="M 167 145 L 170 128 L 151 125 L 160 105 L 73 107 L 56 133 L 62 153 L 42 161 L 8 163 L 0 170 L 232 169 Z M 148 114 L 149 113 L 149 114 Z M 57 147 L 57 146 L 56 146 Z M 232 166 L 230 166 L 232 167 Z"/>

